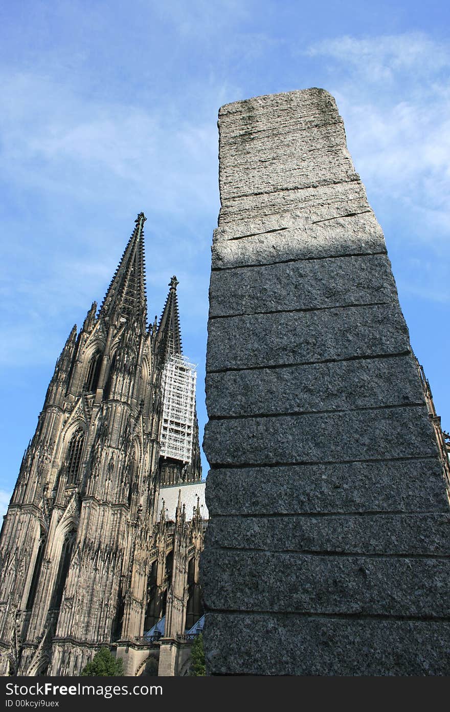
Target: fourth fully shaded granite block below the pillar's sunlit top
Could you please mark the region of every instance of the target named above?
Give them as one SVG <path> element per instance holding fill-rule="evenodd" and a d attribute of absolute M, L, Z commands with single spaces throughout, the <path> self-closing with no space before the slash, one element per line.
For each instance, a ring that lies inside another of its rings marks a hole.
<path fill-rule="evenodd" d="M 436 449 L 422 406 L 210 420 L 204 444 L 212 466 L 395 459 Z"/>

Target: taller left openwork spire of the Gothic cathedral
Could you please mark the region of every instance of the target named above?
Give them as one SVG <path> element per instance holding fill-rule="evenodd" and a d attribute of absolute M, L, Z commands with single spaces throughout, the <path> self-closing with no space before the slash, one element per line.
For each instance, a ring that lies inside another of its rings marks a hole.
<path fill-rule="evenodd" d="M 124 317 L 127 320 L 146 315 L 144 222 L 139 213 L 133 234 L 114 273 L 100 314 L 104 318 Z"/>

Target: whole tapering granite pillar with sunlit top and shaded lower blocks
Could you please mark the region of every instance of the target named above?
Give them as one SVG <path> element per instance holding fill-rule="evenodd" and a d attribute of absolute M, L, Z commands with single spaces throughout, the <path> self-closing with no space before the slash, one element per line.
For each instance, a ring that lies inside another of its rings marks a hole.
<path fill-rule="evenodd" d="M 326 91 L 226 105 L 210 674 L 450 674 L 449 506 L 385 241 Z"/>

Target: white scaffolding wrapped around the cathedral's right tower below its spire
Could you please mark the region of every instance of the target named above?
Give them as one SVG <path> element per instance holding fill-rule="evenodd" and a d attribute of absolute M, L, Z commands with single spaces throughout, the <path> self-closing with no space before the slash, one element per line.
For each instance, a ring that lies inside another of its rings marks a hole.
<path fill-rule="evenodd" d="M 190 464 L 195 415 L 195 364 L 181 355 L 168 358 L 162 375 L 161 455 Z"/>

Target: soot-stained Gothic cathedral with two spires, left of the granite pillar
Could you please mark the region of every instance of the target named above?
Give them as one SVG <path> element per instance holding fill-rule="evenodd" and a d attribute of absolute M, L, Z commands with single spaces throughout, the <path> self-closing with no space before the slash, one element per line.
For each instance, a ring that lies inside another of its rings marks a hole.
<path fill-rule="evenodd" d="M 55 366 L 0 536 L 0 674 L 186 673 L 208 519 L 173 277 L 147 327 L 143 213 Z"/>

